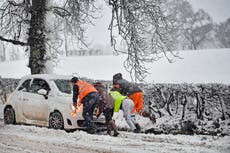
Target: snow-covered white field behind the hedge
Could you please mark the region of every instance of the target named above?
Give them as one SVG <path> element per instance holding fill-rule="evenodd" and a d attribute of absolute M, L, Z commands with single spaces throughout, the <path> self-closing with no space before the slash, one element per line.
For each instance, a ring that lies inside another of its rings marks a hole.
<path fill-rule="evenodd" d="M 147 64 L 150 74 L 145 81 L 230 84 L 230 49 L 182 51 L 179 55 L 183 59 L 172 58 L 173 63 L 163 58 Z M 54 72 L 64 75 L 77 73 L 81 77 L 96 80 L 111 80 L 115 73 L 121 72 L 124 78 L 131 80 L 123 67 L 125 59 L 126 55 L 63 57 L 55 66 Z M 30 74 L 27 63 L 27 60 L 0 63 L 0 76 L 21 78 Z"/>

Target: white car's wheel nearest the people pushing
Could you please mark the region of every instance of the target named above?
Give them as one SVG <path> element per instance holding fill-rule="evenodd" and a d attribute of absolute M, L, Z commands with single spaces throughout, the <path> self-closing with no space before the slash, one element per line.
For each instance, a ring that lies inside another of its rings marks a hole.
<path fill-rule="evenodd" d="M 49 128 L 52 129 L 64 129 L 64 121 L 61 113 L 53 112 L 49 117 Z"/>

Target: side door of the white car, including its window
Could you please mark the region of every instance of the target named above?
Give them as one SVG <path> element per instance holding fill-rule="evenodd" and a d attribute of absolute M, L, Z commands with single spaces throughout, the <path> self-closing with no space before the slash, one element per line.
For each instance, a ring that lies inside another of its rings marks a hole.
<path fill-rule="evenodd" d="M 33 79 L 29 92 L 24 92 L 23 94 L 22 111 L 24 117 L 28 120 L 48 120 L 48 98 L 38 93 L 40 89 L 47 90 L 47 95 L 50 90 L 45 80 L 35 78 Z"/>

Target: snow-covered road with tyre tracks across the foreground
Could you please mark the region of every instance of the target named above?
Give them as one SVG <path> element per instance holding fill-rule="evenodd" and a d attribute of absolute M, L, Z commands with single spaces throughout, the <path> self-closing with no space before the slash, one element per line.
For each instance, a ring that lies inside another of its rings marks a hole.
<path fill-rule="evenodd" d="M 154 135 L 121 132 L 119 137 L 67 133 L 35 126 L 5 125 L 0 120 L 1 153 L 228 153 L 230 137 Z"/>

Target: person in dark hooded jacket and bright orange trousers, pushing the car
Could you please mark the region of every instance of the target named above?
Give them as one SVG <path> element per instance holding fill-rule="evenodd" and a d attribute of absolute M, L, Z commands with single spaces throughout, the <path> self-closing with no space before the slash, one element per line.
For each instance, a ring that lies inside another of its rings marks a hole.
<path fill-rule="evenodd" d="M 142 90 L 134 83 L 122 78 L 121 73 L 117 73 L 113 76 L 113 87 L 118 89 L 122 95 L 128 96 L 133 100 L 134 107 L 132 109 L 132 117 L 135 120 L 135 112 L 137 111 L 139 115 L 143 117 L 148 117 L 152 122 L 155 122 L 155 116 L 143 109 L 143 92 Z M 140 125 L 135 125 L 137 129 L 140 129 Z"/>

